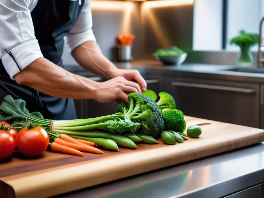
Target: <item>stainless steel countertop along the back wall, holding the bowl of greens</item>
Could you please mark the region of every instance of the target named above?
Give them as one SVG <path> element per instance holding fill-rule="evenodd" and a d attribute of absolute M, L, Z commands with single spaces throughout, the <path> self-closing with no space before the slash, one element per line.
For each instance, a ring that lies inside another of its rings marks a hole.
<path fill-rule="evenodd" d="M 211 80 L 224 80 L 224 81 L 238 81 L 248 83 L 264 83 L 264 74 L 261 73 L 246 73 L 223 71 L 223 69 L 237 68 L 231 65 L 210 65 L 210 64 L 197 64 L 185 63 L 181 66 L 164 66 L 159 62 L 142 62 L 136 61 L 131 63 L 116 63 L 118 68 L 122 69 L 138 69 L 141 73 L 157 73 L 159 75 L 166 75 L 181 78 L 200 78 Z M 94 76 L 94 74 L 87 72 L 80 66 L 67 66 L 65 69 L 85 77 Z"/>

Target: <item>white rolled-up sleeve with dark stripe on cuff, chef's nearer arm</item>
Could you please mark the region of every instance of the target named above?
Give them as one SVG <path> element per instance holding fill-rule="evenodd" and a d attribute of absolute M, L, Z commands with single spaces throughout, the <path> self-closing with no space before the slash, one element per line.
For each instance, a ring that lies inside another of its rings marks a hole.
<path fill-rule="evenodd" d="M 0 1 L 0 58 L 11 79 L 43 57 L 29 10 L 34 0 Z"/>

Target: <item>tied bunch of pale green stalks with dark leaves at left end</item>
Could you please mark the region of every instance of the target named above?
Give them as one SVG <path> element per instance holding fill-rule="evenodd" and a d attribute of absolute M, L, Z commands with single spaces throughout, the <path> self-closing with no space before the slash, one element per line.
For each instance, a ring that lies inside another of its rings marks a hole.
<path fill-rule="evenodd" d="M 50 124 L 52 120 L 43 119 L 43 116 L 39 112 L 32 114 L 26 109 L 26 102 L 24 100 L 14 100 L 10 95 L 4 98 L 3 103 L 0 105 L 1 120 L 15 121 L 15 120 L 29 120 L 33 124 L 39 124 L 50 130 Z M 40 116 L 40 117 L 37 117 Z M 132 122 L 129 117 L 124 116 L 121 113 L 101 116 L 88 119 L 76 119 L 76 120 L 56 120 L 52 124 L 52 130 L 91 130 L 91 129 L 103 129 L 111 132 L 122 131 L 137 131 L 140 124 Z"/>

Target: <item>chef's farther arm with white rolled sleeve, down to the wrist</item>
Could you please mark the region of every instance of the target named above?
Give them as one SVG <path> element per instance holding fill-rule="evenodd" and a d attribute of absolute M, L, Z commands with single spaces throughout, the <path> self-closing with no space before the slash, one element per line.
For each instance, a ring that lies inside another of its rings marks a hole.
<path fill-rule="evenodd" d="M 69 51 L 84 69 L 108 79 L 119 75 L 119 70 L 101 52 L 92 30 L 90 1 L 84 1 L 74 27 L 67 33 Z"/>

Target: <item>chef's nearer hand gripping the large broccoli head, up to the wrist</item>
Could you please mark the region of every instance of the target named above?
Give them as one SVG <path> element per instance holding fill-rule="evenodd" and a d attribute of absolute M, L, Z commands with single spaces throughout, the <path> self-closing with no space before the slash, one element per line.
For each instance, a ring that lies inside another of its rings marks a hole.
<path fill-rule="evenodd" d="M 128 81 L 124 77 L 115 77 L 109 81 L 100 82 L 97 85 L 97 94 L 95 100 L 98 102 L 114 102 L 124 100 L 129 105 L 128 95 L 126 93 L 140 93 L 138 83 Z"/>

